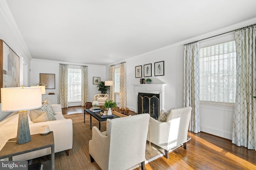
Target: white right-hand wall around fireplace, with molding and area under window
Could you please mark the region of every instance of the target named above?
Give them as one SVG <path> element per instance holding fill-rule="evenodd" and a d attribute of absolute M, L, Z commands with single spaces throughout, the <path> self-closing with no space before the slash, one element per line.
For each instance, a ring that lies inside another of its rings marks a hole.
<path fill-rule="evenodd" d="M 164 87 L 164 109 L 182 107 L 184 82 L 184 44 L 225 33 L 230 30 L 245 27 L 254 23 L 256 23 L 256 18 L 230 25 L 229 27 L 206 33 L 198 37 L 193 37 L 191 39 L 126 60 L 127 107 L 133 111 L 136 107 L 136 96 L 132 84 L 140 84 L 140 78 L 135 78 L 135 66 L 142 65 L 143 68 L 144 64 L 150 63 L 152 63 L 152 77 L 150 77 L 152 79 L 152 83 L 166 83 Z M 164 76 L 154 76 L 154 63 L 158 61 L 164 61 Z M 121 62 L 124 61 L 112 64 L 118 64 Z M 109 77 L 109 66 L 106 67 L 106 77 Z M 232 139 L 233 116 L 234 106 L 200 104 L 201 131 L 224 137 L 226 139 Z"/>

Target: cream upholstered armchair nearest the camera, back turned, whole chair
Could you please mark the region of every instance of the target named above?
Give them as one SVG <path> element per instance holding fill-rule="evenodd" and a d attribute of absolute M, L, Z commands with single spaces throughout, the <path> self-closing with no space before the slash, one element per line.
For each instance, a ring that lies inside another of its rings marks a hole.
<path fill-rule="evenodd" d="M 102 170 L 126 170 L 136 164 L 145 169 L 146 138 L 149 114 L 107 120 L 107 131 L 92 128 L 89 141 L 91 162 Z"/>

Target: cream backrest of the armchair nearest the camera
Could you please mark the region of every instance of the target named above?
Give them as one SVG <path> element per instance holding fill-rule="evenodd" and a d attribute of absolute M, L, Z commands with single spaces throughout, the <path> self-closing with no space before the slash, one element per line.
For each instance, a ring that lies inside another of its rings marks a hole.
<path fill-rule="evenodd" d="M 117 164 L 120 164 L 122 169 L 128 169 L 145 160 L 149 118 L 149 114 L 139 114 L 109 121 L 108 169 L 114 169 Z"/>

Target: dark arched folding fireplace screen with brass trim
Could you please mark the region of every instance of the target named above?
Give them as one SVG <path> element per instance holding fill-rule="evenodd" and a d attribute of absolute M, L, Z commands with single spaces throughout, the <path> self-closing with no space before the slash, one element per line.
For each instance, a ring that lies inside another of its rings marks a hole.
<path fill-rule="evenodd" d="M 149 113 L 154 119 L 159 115 L 159 94 L 138 93 L 138 114 Z"/>

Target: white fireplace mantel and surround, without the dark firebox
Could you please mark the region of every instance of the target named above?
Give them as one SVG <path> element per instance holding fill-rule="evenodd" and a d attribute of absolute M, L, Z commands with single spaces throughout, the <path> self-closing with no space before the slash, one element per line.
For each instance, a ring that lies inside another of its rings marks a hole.
<path fill-rule="evenodd" d="M 135 97 L 136 97 L 135 113 L 137 113 L 137 109 L 138 109 L 138 102 L 137 102 L 138 93 L 159 94 L 159 111 L 162 110 L 163 104 L 164 104 L 165 83 L 163 84 L 132 84 L 132 85 L 134 86 Z"/>

